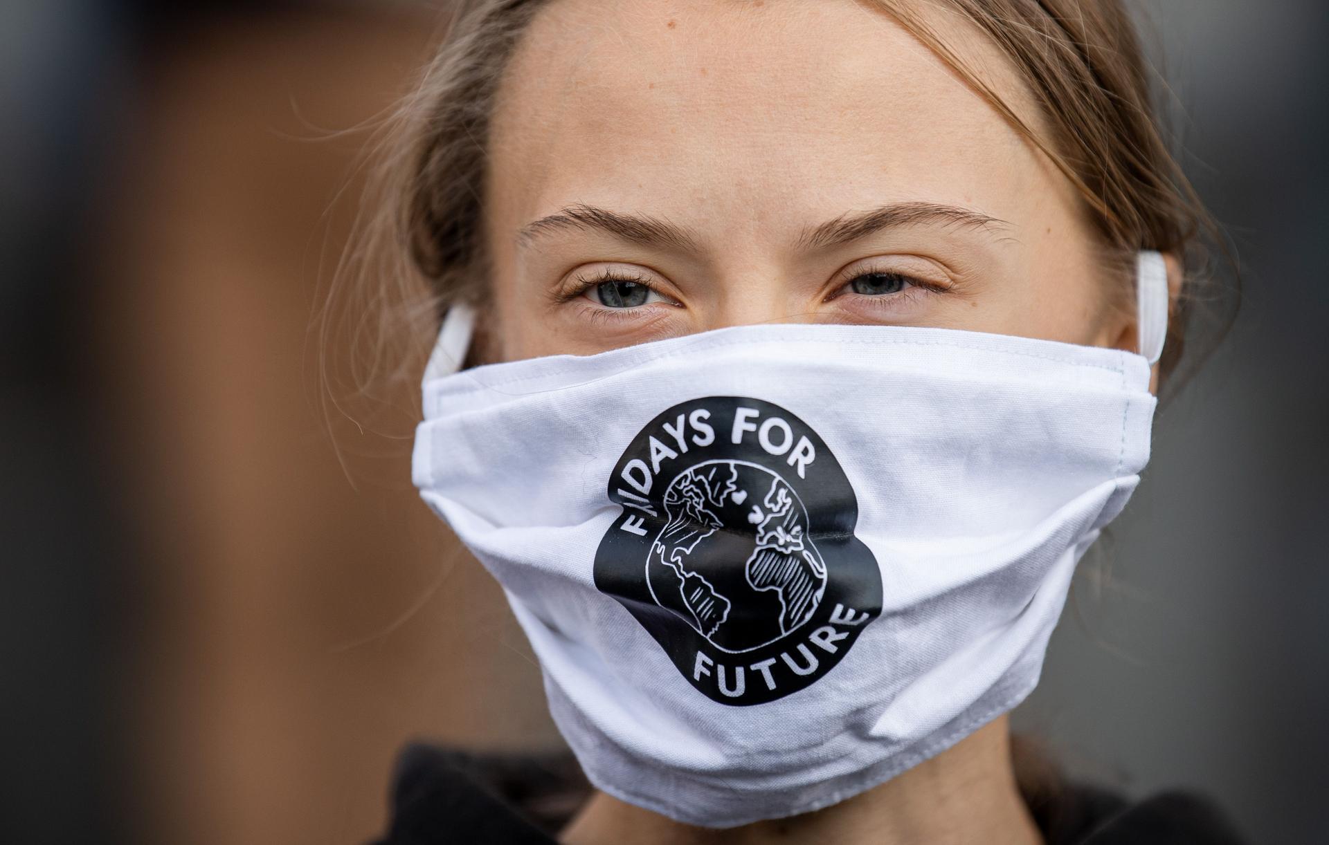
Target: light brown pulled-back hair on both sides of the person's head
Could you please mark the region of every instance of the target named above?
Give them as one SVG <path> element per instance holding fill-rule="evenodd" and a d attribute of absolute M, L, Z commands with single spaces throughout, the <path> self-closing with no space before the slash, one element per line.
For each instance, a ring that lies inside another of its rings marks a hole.
<path fill-rule="evenodd" d="M 926 4 L 928 11 L 958 15 L 977 27 L 1010 60 L 1051 128 L 1051 137 L 1043 138 L 977 69 L 965 66 L 922 4 L 857 1 L 893 16 L 933 49 L 1071 181 L 1120 279 L 1111 302 L 1132 307 L 1130 268 L 1138 250 L 1177 255 L 1185 280 L 1160 365 L 1163 397 L 1174 395 L 1231 326 L 1240 275 L 1229 274 L 1232 284 L 1225 287 L 1211 272 L 1220 254 L 1233 270 L 1236 263 L 1164 141 L 1162 104 L 1154 100 L 1154 77 L 1123 3 Z M 509 56 L 545 3 L 455 0 L 435 58 L 371 146 L 371 194 L 327 300 L 338 307 L 324 311 L 324 318 L 356 320 L 350 381 L 361 397 L 372 400 L 395 383 L 415 384 L 448 303 L 486 302 L 481 198 L 489 114 Z M 330 323 L 322 326 L 324 348 Z M 484 344 L 481 329 L 477 347 L 482 351 Z"/>

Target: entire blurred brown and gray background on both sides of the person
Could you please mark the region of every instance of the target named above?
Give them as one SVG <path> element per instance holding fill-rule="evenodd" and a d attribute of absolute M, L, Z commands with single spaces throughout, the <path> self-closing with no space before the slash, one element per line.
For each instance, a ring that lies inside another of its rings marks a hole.
<path fill-rule="evenodd" d="M 1245 303 L 1017 725 L 1322 842 L 1329 4 L 1138 5 Z M 0 7 L 0 838 L 363 841 L 407 739 L 557 741 L 497 591 L 420 513 L 411 421 L 352 436 L 352 489 L 311 387 L 363 141 L 324 130 L 389 104 L 436 19 Z"/>

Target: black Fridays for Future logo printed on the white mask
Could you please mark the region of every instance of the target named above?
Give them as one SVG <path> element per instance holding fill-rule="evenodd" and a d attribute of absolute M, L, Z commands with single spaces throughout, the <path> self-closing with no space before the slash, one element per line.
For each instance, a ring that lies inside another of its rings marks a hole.
<path fill-rule="evenodd" d="M 622 512 L 595 551 L 595 587 L 715 702 L 762 704 L 808 687 L 881 612 L 849 480 L 779 405 L 674 405 L 629 444 L 609 498 Z"/>

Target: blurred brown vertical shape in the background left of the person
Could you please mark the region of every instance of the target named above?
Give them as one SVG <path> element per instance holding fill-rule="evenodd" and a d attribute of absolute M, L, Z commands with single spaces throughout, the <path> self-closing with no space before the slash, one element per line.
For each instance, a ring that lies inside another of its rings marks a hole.
<path fill-rule="evenodd" d="M 411 485 L 412 426 L 361 434 L 316 381 L 311 315 L 367 138 L 331 133 L 389 106 L 435 29 L 369 4 L 186 20 L 122 118 L 96 314 L 148 590 L 129 737 L 148 841 L 363 841 L 405 739 L 553 736 L 501 593 Z"/>

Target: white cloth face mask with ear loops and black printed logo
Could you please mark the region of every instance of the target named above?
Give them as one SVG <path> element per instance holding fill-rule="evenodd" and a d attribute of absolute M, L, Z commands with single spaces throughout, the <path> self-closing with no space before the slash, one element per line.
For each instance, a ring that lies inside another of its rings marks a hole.
<path fill-rule="evenodd" d="M 1142 352 L 762 324 L 424 380 L 413 480 L 502 585 L 590 781 L 732 826 L 841 801 L 1035 686 L 1150 456 Z"/>

